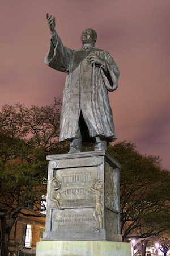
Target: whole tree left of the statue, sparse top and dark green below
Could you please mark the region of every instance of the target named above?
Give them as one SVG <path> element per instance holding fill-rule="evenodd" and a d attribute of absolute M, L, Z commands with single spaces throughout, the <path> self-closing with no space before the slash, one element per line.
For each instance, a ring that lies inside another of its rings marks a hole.
<path fill-rule="evenodd" d="M 2 255 L 7 255 L 10 230 L 18 214 L 39 216 L 46 193 L 46 154 L 65 152 L 58 143 L 59 105 L 30 109 L 23 104 L 3 105 L 0 113 L 0 219 Z M 34 200 L 31 209 L 28 199 Z M 25 213 L 24 210 L 29 210 Z"/>

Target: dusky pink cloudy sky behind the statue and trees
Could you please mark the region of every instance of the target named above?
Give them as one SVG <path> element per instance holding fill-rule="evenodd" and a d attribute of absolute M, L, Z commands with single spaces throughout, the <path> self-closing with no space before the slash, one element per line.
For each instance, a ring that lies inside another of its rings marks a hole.
<path fill-rule="evenodd" d="M 143 155 L 159 155 L 170 170 L 170 1 L 1 0 L 0 108 L 62 98 L 66 73 L 44 64 L 47 12 L 70 49 L 82 47 L 84 29 L 96 30 L 96 47 L 120 69 L 118 89 L 109 92 L 117 142 L 126 139 Z"/>

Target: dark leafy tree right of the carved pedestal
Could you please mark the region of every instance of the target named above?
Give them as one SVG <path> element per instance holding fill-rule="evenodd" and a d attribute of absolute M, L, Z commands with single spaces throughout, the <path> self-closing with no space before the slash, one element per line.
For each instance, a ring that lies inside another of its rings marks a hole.
<path fill-rule="evenodd" d="M 141 155 L 134 143 L 119 142 L 108 152 L 121 163 L 120 199 L 123 240 L 147 238 L 170 229 L 170 172 L 158 156 Z"/>

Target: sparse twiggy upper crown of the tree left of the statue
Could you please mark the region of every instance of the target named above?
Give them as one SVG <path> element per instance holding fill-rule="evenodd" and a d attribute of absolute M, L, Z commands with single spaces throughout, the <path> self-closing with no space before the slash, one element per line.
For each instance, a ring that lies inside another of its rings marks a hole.
<path fill-rule="evenodd" d="M 59 133 L 59 99 L 54 104 L 39 108 L 24 104 L 3 105 L 0 113 L 0 131 L 9 138 L 28 139 L 34 146 L 48 147 Z"/>

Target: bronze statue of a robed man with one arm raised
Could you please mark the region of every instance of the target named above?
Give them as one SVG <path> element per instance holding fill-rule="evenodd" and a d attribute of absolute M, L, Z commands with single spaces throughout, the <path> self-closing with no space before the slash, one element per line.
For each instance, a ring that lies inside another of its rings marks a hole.
<path fill-rule="evenodd" d="M 69 153 L 81 151 L 82 143 L 94 143 L 95 151 L 106 150 L 114 141 L 112 110 L 108 90 L 117 89 L 119 70 L 107 51 L 95 48 L 95 30 L 83 31 L 83 46 L 63 46 L 55 30 L 55 18 L 46 14 L 52 38 L 45 64 L 67 72 L 59 125 L 59 141 L 70 141 Z"/>

